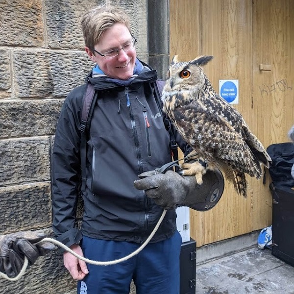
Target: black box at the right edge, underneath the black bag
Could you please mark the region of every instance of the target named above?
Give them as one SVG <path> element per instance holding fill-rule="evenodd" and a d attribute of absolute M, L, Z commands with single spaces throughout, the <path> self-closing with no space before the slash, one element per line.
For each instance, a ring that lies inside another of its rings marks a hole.
<path fill-rule="evenodd" d="M 270 185 L 272 192 L 271 253 L 294 266 L 294 190 L 282 185 Z"/>

